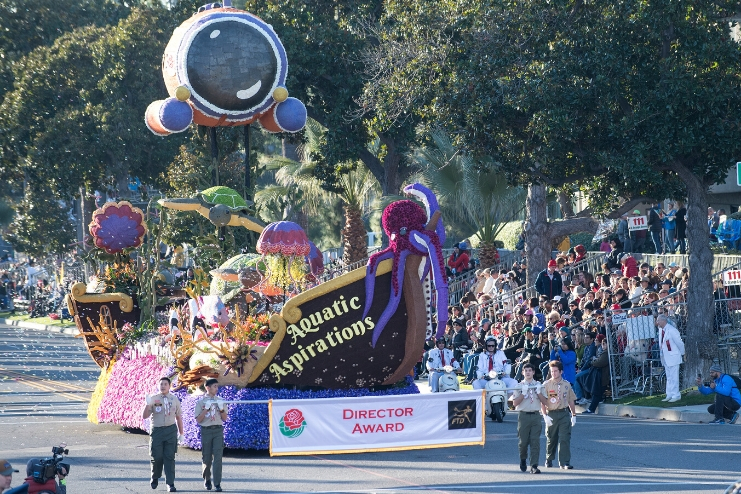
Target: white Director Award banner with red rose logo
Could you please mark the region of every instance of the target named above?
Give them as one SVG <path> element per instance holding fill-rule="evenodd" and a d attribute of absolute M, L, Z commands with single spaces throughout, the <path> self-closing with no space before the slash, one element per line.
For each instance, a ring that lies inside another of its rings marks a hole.
<path fill-rule="evenodd" d="M 484 444 L 484 392 L 270 401 L 270 455 Z"/>

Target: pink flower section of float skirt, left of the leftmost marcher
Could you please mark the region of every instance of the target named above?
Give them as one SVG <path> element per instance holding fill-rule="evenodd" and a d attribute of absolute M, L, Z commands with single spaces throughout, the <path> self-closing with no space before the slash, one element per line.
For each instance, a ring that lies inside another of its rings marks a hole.
<path fill-rule="evenodd" d="M 148 394 L 159 392 L 159 379 L 169 374 L 170 368 L 154 355 L 118 360 L 98 408 L 98 422 L 147 430 L 148 424 L 142 419 L 144 400 Z"/>

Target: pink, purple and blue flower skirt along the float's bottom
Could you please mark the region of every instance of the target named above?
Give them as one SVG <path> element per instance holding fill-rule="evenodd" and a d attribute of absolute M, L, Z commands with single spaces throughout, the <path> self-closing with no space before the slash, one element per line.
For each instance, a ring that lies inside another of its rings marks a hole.
<path fill-rule="evenodd" d="M 157 392 L 157 383 L 163 376 L 169 376 L 173 369 L 163 366 L 153 356 L 116 362 L 108 381 L 103 400 L 98 409 L 98 420 L 124 427 L 141 430 L 149 429 L 149 421 L 142 420 L 144 399 L 147 394 Z M 414 380 L 406 377 L 404 386 L 371 391 L 360 389 L 325 389 L 318 391 L 298 391 L 276 388 L 242 388 L 224 386 L 219 396 L 224 400 L 286 400 L 309 398 L 343 398 L 346 396 L 384 396 L 417 394 L 419 389 Z M 193 449 L 201 449 L 201 428 L 196 424 L 193 414 L 196 402 L 201 395 L 189 395 L 185 390 L 174 391 L 180 400 L 185 427 L 185 444 Z M 268 449 L 270 441 L 268 405 L 230 405 L 229 417 L 224 427 L 224 441 L 227 448 Z"/>

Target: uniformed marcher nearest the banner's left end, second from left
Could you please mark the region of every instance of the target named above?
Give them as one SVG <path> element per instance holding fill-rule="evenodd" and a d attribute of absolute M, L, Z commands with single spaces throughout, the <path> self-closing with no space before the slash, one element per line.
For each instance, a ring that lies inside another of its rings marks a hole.
<path fill-rule="evenodd" d="M 224 421 L 227 406 L 217 393 L 219 381 L 206 381 L 206 394 L 196 403 L 196 422 L 201 426 L 201 454 L 203 486 L 211 490 L 211 465 L 213 464 L 214 487 L 221 492 L 221 457 L 224 453 Z"/>

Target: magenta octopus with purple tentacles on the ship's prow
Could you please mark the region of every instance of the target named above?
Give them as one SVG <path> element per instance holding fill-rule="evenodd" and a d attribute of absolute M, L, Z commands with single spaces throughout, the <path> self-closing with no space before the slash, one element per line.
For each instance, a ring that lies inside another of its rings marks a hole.
<path fill-rule="evenodd" d="M 426 211 L 409 200 L 393 202 L 383 211 L 381 222 L 383 230 L 389 237 L 389 246 L 368 259 L 363 317 L 368 315 L 373 302 L 378 263 L 385 259 L 393 259 L 391 299 L 373 329 L 371 343 L 374 347 L 386 323 L 399 307 L 401 286 L 404 282 L 404 267 L 410 254 L 424 258 L 424 263 L 420 266 L 420 280 L 424 280 L 429 275 L 435 283 L 437 336 L 443 335 L 445 323 L 448 320 L 448 281 L 441 249 L 442 242 L 445 242 L 445 229 L 439 218 L 437 198 L 431 190 L 421 184 L 409 185 L 404 188 L 404 192 L 420 200 L 425 205 Z M 435 228 L 435 230 L 428 228 Z M 427 298 L 427 300 L 428 317 L 430 317 L 433 308 L 432 299 Z"/>

